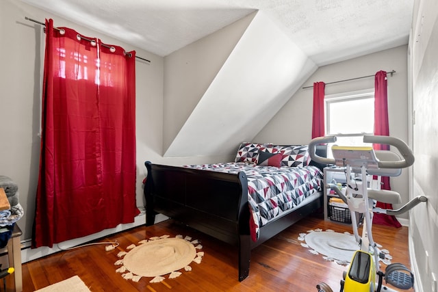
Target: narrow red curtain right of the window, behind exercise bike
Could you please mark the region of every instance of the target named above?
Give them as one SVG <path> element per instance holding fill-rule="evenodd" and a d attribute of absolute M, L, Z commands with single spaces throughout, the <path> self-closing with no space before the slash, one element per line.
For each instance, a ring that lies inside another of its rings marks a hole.
<path fill-rule="evenodd" d="M 388 92 L 385 71 L 378 71 L 374 77 L 374 135 L 389 136 Z M 374 144 L 375 150 L 389 150 L 389 145 Z M 382 177 L 382 189 L 391 189 L 389 177 Z M 392 209 L 392 204 L 377 202 L 377 207 Z M 375 213 L 373 223 L 401 227 L 395 216 Z"/>

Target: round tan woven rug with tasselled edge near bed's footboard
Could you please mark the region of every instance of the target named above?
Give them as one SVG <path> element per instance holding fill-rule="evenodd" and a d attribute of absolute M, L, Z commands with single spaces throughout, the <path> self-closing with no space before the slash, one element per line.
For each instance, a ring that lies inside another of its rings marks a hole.
<path fill-rule="evenodd" d="M 116 271 L 123 273 L 123 278 L 138 282 L 142 277 L 155 277 L 150 282 L 161 282 L 164 275 L 177 278 L 181 271 L 191 271 L 190 263 L 201 263 L 202 245 L 191 237 L 152 237 L 140 241 L 139 245 L 129 245 L 129 252 L 119 252 L 122 259 L 115 265 L 121 265 Z"/>

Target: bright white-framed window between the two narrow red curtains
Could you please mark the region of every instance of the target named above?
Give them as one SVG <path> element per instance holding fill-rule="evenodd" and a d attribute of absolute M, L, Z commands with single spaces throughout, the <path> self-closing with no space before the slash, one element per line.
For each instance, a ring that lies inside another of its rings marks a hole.
<path fill-rule="evenodd" d="M 336 135 L 337 145 L 367 145 L 362 136 L 374 133 L 374 88 L 326 95 L 324 102 L 326 135 Z"/>

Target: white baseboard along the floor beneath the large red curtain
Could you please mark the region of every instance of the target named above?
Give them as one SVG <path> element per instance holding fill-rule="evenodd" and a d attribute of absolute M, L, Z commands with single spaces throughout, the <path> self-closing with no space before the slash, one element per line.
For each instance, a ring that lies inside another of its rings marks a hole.
<path fill-rule="evenodd" d="M 168 217 L 162 214 L 157 214 L 155 216 L 155 223 L 162 222 L 164 220 L 168 220 Z M 88 235 L 86 237 L 81 237 L 77 239 L 71 239 L 68 241 L 64 241 L 62 243 L 57 243 L 53 245 L 53 248 L 41 247 L 41 248 L 30 248 L 31 239 L 25 239 L 21 241 L 21 262 L 27 263 L 28 261 L 36 260 L 37 258 L 41 258 L 42 256 L 48 256 L 49 254 L 54 254 L 55 252 L 60 252 L 65 250 L 66 248 L 70 248 L 73 246 L 81 245 L 83 243 L 93 241 L 102 237 L 106 237 L 109 235 L 113 235 L 115 233 L 119 233 L 124 230 L 128 230 L 134 227 L 142 226 L 146 223 L 146 215 L 140 213 L 140 215 L 134 218 L 133 223 L 129 224 L 119 224 L 115 228 L 109 228 L 102 230 L 99 233 L 94 233 L 92 235 Z M 102 247 L 105 250 L 105 247 Z M 1 252 L 1 251 L 0 251 Z M 3 260 L 3 257 L 7 258 L 6 255 L 1 256 L 0 263 Z"/>

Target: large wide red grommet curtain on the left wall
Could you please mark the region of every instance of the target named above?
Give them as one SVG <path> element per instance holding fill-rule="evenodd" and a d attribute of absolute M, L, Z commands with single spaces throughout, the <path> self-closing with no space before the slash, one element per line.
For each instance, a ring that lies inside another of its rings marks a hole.
<path fill-rule="evenodd" d="M 130 223 L 139 213 L 135 51 L 53 29 L 52 20 L 46 34 L 33 248 Z"/>

